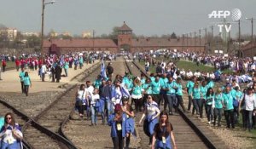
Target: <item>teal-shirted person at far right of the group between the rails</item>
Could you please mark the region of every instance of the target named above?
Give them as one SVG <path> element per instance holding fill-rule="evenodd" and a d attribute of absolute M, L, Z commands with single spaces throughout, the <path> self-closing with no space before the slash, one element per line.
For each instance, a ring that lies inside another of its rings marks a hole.
<path fill-rule="evenodd" d="M 183 112 L 187 112 L 183 103 L 183 86 L 181 83 L 181 77 L 177 77 L 177 82 L 174 84 L 174 89 L 176 89 L 176 98 L 177 98 L 177 105 L 176 105 L 176 112 L 178 106 L 181 106 Z"/>

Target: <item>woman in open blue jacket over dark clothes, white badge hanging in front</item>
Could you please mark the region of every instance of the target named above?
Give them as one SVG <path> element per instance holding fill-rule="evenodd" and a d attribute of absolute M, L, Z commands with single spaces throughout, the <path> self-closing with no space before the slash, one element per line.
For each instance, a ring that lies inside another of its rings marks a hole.
<path fill-rule="evenodd" d="M 124 148 L 126 114 L 120 104 L 114 106 L 114 112 L 108 117 L 108 125 L 111 126 L 111 137 L 114 149 Z"/>

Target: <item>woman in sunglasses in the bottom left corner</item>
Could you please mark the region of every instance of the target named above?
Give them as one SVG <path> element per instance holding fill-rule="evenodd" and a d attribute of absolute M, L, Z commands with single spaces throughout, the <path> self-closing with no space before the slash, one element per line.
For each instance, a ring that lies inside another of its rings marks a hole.
<path fill-rule="evenodd" d="M 20 149 L 23 135 L 11 112 L 4 116 L 4 125 L 0 130 L 1 149 Z"/>

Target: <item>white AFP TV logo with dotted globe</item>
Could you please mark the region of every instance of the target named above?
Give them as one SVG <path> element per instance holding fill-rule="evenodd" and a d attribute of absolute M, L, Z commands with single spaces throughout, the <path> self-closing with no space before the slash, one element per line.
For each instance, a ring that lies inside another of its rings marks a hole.
<path fill-rule="evenodd" d="M 241 19 L 241 10 L 240 9 L 232 9 L 229 10 L 213 10 L 211 14 L 208 14 L 209 19 L 227 19 L 228 17 L 231 17 L 233 21 L 238 21 Z M 218 24 L 219 32 L 223 31 L 223 28 L 226 32 L 230 32 L 231 25 L 226 24 Z"/>

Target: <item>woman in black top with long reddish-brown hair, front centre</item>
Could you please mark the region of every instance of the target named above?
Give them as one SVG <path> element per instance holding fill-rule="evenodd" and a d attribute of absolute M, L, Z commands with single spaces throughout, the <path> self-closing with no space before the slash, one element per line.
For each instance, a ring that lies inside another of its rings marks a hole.
<path fill-rule="evenodd" d="M 168 120 L 168 113 L 163 111 L 160 113 L 160 123 L 154 126 L 154 135 L 152 141 L 152 149 L 176 149 L 176 142 L 173 135 L 172 123 Z M 172 140 L 172 142 L 171 142 Z"/>

